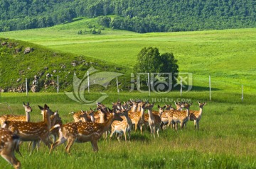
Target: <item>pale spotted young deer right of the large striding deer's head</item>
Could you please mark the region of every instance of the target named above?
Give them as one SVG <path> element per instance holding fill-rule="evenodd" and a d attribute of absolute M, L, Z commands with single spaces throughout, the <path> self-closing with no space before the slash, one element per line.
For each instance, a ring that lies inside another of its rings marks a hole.
<path fill-rule="evenodd" d="M 117 132 L 119 134 L 119 136 L 117 136 L 118 141 L 120 141 L 120 136 L 122 136 L 122 134 L 124 134 L 124 140 L 125 143 L 127 143 L 127 135 L 126 133 L 128 133 L 128 138 L 129 138 L 129 142 L 131 142 L 131 130 L 132 130 L 132 120 L 129 118 L 128 115 L 128 108 L 122 108 L 122 121 L 118 121 L 115 120 L 114 122 L 112 122 L 111 125 L 111 134 L 110 134 L 110 140 L 114 134 L 114 132 Z"/>

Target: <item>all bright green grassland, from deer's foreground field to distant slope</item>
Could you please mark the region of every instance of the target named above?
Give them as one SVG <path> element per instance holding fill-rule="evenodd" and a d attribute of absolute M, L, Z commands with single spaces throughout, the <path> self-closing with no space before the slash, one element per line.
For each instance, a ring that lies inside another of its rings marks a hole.
<path fill-rule="evenodd" d="M 197 100 L 206 101 L 200 129 L 195 131 L 193 122 L 188 122 L 186 129 L 166 129 L 156 139 L 148 130 L 143 136 L 132 132 L 131 143 L 127 144 L 113 136 L 111 141 L 99 141 L 98 153 L 85 143 L 74 144 L 70 155 L 65 153 L 64 145 L 49 155 L 48 148 L 41 144 L 38 152 L 28 156 L 28 143 L 24 143 L 23 157 L 16 155 L 22 168 L 256 168 L 256 28 L 145 34 L 105 28 L 101 35 L 78 35 L 78 30 L 89 30 L 87 23 L 98 26 L 95 19 L 83 18 L 52 28 L 4 32 L 0 37 L 32 42 L 66 54 L 82 54 L 129 70 L 143 47 L 157 47 L 161 54 L 172 52 L 178 59 L 179 71 L 193 74 L 192 91 L 182 93 L 182 97 L 178 91 L 149 96 L 120 88 L 119 95 L 107 91 L 109 97 L 103 103 L 111 106 L 117 99 L 142 98 L 156 105 L 174 105 L 174 100 L 188 100 L 193 102 L 191 110 L 198 110 Z M 59 110 L 63 123 L 73 121 L 68 115 L 71 111 L 96 107 L 76 103 L 63 92 L 0 94 L 0 115 L 23 115 L 22 102 L 29 102 L 33 122 L 42 119 L 37 105 L 45 103 L 50 109 Z M 88 100 L 100 95 L 97 91 L 85 94 Z M 0 158 L 0 168 L 11 165 Z"/>

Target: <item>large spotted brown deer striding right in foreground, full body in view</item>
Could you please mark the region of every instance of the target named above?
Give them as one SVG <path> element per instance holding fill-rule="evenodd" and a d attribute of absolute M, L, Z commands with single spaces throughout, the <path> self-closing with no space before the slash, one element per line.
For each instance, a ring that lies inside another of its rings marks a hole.
<path fill-rule="evenodd" d="M 110 128 L 114 120 L 123 120 L 119 113 L 115 112 L 115 110 L 105 123 L 71 122 L 68 124 L 63 124 L 62 127 L 60 127 L 59 124 L 55 125 L 52 129 L 60 127 L 60 137 L 54 144 L 51 145 L 50 153 L 56 146 L 63 144 L 65 141 L 68 141 L 68 144 L 65 147 L 65 151 L 67 153 L 70 153 L 70 148 L 74 142 L 84 143 L 87 141 L 91 142 L 93 151 L 97 152 L 99 150 L 97 141 L 100 139 L 102 134 Z"/>

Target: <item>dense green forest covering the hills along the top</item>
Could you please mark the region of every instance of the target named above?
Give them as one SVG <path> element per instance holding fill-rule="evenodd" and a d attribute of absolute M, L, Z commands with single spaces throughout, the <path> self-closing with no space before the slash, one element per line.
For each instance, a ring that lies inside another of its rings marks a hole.
<path fill-rule="evenodd" d="M 254 28 L 255 6 L 254 0 L 1 0 L 0 31 L 107 15 L 116 16 L 107 26 L 137 33 Z"/>

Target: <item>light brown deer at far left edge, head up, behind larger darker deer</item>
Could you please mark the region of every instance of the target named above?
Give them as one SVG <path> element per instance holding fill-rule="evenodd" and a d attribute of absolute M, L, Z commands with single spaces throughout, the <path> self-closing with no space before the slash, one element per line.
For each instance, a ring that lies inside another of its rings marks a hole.
<path fill-rule="evenodd" d="M 26 115 L 3 115 L 0 117 L 1 126 L 3 126 L 5 121 L 30 122 L 30 112 L 32 112 L 32 108 L 29 106 L 29 103 L 23 103 L 23 107 L 25 108 Z"/>

